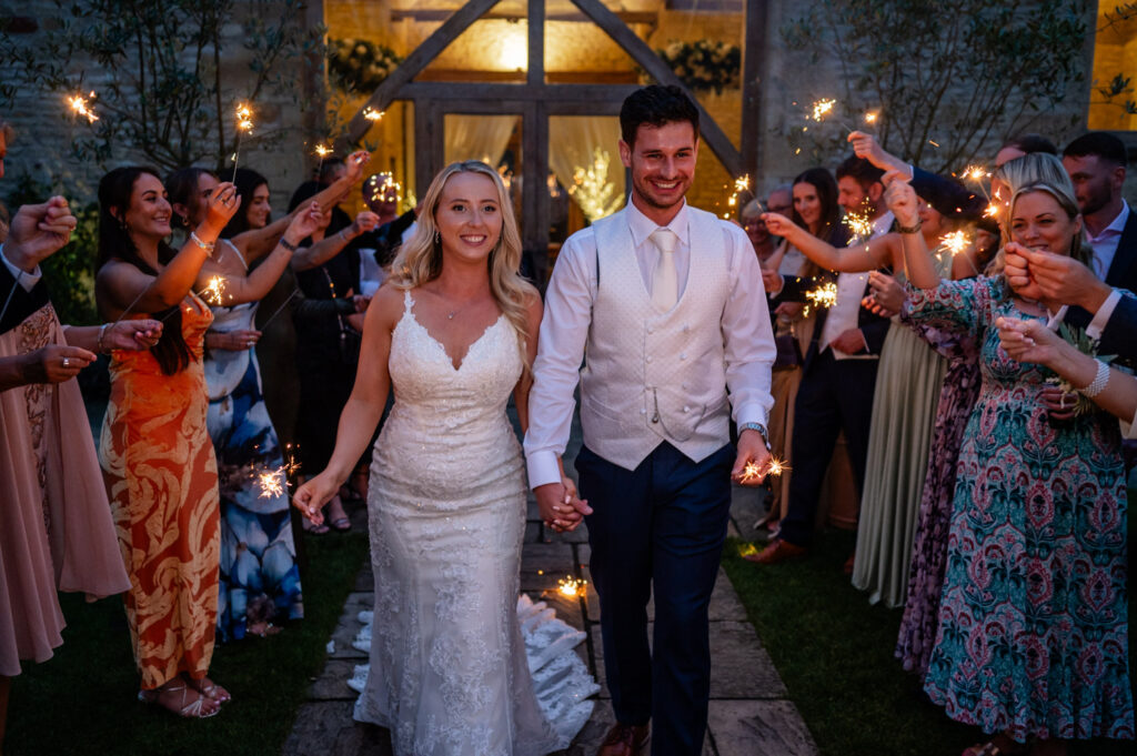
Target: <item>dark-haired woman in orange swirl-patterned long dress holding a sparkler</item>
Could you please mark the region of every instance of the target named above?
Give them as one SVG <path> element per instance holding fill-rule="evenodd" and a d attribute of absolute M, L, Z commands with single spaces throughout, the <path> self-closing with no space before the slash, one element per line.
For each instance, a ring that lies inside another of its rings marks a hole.
<path fill-rule="evenodd" d="M 175 250 L 166 243 L 173 211 L 155 173 L 115 168 L 99 182 L 99 310 L 115 322 L 153 314 L 164 323 L 149 351 L 111 354 L 99 445 L 131 579 L 139 697 L 188 717 L 213 716 L 230 699 L 208 678 L 221 540 L 201 352 L 213 314 L 193 283 L 240 203 L 232 184 L 219 184 Z"/>

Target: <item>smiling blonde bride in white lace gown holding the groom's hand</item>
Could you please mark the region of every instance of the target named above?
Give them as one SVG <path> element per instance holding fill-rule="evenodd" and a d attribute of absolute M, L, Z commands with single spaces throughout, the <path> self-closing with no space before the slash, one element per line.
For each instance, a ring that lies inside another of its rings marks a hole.
<path fill-rule="evenodd" d="M 398 755 L 547 754 L 591 713 L 582 699 L 596 686 L 573 643 L 551 662 L 548 648 L 526 658 L 549 633 L 523 641 L 518 621 L 526 488 L 505 408 L 513 392 L 528 427 L 541 321 L 520 261 L 497 173 L 476 161 L 445 168 L 367 309 L 335 451 L 293 497 L 318 524 L 393 388 L 367 496 L 375 610 L 355 717 L 389 728 Z"/>

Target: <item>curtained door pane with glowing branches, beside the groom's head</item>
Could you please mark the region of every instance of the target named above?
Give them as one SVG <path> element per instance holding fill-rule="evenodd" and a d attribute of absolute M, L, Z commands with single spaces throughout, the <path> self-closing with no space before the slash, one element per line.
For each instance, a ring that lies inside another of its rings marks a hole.
<path fill-rule="evenodd" d="M 589 221 L 609 215 L 624 205 L 624 166 L 620 161 L 619 142 L 620 119 L 615 116 L 549 118 L 549 167 L 561 185 L 570 190 L 575 186 L 570 196 Z M 606 169 L 604 161 L 607 161 Z M 581 172 L 584 172 L 583 182 L 578 185 L 576 176 Z"/>

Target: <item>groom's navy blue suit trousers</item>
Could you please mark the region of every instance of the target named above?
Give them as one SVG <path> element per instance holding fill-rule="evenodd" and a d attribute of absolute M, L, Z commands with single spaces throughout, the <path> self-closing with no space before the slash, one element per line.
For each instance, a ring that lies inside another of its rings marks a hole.
<path fill-rule="evenodd" d="M 695 463 L 667 442 L 634 471 L 576 457 L 600 597 L 604 668 L 622 724 L 652 720 L 653 756 L 703 751 L 711 691 L 707 607 L 730 515 L 731 445 Z M 654 654 L 647 603 L 655 593 Z"/>

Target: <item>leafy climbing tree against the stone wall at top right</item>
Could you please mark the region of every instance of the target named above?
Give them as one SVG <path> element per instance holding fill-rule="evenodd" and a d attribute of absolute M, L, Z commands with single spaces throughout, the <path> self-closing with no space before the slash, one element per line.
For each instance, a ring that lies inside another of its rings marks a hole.
<path fill-rule="evenodd" d="M 814 61 L 836 58 L 840 108 L 879 109 L 886 149 L 949 169 L 1028 130 L 1085 80 L 1087 11 L 1086 0 L 812 0 L 782 35 Z"/>

